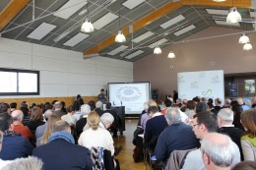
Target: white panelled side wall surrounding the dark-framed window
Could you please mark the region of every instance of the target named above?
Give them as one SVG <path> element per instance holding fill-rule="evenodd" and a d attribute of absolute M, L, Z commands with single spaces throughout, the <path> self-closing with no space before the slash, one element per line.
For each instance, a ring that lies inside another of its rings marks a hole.
<path fill-rule="evenodd" d="M 107 83 L 133 82 L 133 63 L 0 37 L 0 67 L 40 71 L 40 95 L 94 96 Z M 29 84 L 29 83 L 28 83 Z M 14 96 L 2 96 L 1 98 Z M 17 96 L 15 96 L 17 97 Z"/>

